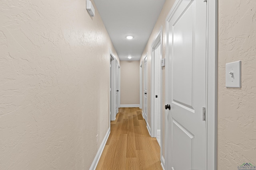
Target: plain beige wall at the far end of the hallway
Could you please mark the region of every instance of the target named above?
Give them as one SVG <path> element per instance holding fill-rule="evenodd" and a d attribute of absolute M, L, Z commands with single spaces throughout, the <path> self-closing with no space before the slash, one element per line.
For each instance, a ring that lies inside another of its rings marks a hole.
<path fill-rule="evenodd" d="M 140 104 L 140 61 L 120 61 L 120 105 Z"/>

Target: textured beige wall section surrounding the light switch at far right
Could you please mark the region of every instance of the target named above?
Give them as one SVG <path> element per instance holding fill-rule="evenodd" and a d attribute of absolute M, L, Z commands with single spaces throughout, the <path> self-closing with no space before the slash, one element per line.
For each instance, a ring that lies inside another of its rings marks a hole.
<path fill-rule="evenodd" d="M 256 165 L 256 1 L 220 0 L 218 169 Z M 225 64 L 242 61 L 242 88 L 225 87 Z"/>

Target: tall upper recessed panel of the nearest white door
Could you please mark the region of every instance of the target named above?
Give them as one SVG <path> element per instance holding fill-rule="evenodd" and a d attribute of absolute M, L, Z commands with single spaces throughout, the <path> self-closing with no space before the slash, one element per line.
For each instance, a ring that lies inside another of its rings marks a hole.
<path fill-rule="evenodd" d="M 173 29 L 173 98 L 192 107 L 193 8 L 190 6 L 172 25 Z M 186 49 L 186 50 L 184 50 Z"/>

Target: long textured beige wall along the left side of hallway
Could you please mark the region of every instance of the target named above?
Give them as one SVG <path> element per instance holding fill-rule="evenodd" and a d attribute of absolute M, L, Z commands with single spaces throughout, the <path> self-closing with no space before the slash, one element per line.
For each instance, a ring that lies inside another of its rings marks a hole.
<path fill-rule="evenodd" d="M 0 169 L 90 168 L 110 126 L 110 49 L 85 0 L 1 0 Z"/>

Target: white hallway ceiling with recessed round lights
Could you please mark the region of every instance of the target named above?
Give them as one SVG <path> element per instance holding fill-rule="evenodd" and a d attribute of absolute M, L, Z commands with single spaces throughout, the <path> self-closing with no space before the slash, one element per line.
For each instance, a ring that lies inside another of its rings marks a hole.
<path fill-rule="evenodd" d="M 165 0 L 94 0 L 122 61 L 140 60 Z M 134 38 L 129 40 L 126 36 Z"/>

